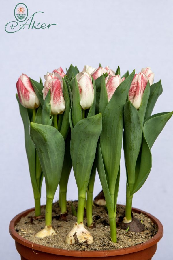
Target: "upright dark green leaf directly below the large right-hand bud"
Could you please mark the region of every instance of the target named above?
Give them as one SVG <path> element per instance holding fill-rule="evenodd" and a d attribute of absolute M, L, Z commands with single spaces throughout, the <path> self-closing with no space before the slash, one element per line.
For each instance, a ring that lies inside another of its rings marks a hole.
<path fill-rule="evenodd" d="M 140 152 L 141 142 L 142 132 L 138 110 L 132 105 L 131 101 L 127 101 L 124 105 L 123 148 L 127 183 L 130 191 L 135 183 L 136 161 Z"/>

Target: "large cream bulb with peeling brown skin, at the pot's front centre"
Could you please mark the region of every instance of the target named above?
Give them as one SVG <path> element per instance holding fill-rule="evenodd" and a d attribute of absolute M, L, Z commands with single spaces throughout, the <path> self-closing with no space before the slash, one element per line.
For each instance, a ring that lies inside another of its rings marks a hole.
<path fill-rule="evenodd" d="M 71 245 L 71 244 L 84 243 L 84 242 L 86 242 L 87 244 L 91 244 L 93 243 L 93 241 L 94 240 L 92 235 L 89 233 L 88 230 L 86 230 L 86 228 L 84 228 L 84 223 L 80 222 L 78 224 L 76 222 L 72 230 L 68 233 L 65 239 L 65 244 Z"/>

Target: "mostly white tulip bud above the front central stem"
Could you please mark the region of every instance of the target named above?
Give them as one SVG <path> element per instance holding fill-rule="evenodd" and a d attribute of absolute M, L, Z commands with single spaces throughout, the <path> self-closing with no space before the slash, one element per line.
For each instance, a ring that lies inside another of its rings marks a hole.
<path fill-rule="evenodd" d="M 80 93 L 80 105 L 85 110 L 91 107 L 94 100 L 94 89 L 91 75 L 87 72 L 79 72 L 76 75 Z"/>

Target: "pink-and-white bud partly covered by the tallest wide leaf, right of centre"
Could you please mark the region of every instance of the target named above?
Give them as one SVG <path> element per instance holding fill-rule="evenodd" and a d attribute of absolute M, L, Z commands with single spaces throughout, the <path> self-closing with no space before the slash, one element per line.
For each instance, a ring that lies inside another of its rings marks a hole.
<path fill-rule="evenodd" d="M 125 80 L 125 78 L 120 77 L 120 75 L 109 75 L 106 80 L 106 90 L 108 94 L 108 101 L 110 101 L 111 97 L 113 96 L 115 90 L 118 88 L 118 86 Z"/>

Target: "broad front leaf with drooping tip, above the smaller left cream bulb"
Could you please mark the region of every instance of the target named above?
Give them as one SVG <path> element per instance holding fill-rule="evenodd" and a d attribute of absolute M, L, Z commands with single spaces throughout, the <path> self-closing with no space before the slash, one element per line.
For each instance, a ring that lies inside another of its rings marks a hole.
<path fill-rule="evenodd" d="M 30 137 L 37 150 L 46 181 L 46 197 L 54 198 L 64 161 L 65 143 L 59 131 L 49 125 L 31 122 Z"/>

